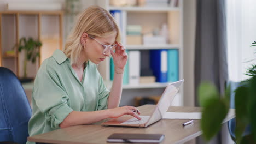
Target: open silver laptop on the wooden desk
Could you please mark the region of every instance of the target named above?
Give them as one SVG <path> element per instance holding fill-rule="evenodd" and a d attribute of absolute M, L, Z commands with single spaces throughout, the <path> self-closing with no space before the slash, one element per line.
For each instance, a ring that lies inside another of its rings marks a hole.
<path fill-rule="evenodd" d="M 152 115 L 150 116 L 140 115 L 139 117 L 141 117 L 141 120 L 138 120 L 135 117 L 131 118 L 131 116 L 129 115 L 124 115 L 118 118 L 113 118 L 107 122 L 104 122 L 102 123 L 102 125 L 142 127 L 142 128 L 148 127 L 148 125 L 153 124 L 159 121 L 160 119 L 162 119 L 162 117 L 165 115 L 166 111 L 170 107 L 170 104 L 172 103 L 175 95 L 179 91 L 179 87 L 181 87 L 183 82 L 184 80 L 168 83 Z"/>

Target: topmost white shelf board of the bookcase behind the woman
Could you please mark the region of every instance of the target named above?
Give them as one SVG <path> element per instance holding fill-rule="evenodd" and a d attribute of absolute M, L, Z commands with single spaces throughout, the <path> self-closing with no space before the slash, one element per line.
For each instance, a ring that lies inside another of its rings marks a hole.
<path fill-rule="evenodd" d="M 124 10 L 124 11 L 159 11 L 159 12 L 168 12 L 168 11 L 179 11 L 180 8 L 179 7 L 168 7 L 168 6 L 143 6 L 143 7 L 139 7 L 139 6 L 133 6 L 133 7 L 109 7 L 109 10 Z"/>

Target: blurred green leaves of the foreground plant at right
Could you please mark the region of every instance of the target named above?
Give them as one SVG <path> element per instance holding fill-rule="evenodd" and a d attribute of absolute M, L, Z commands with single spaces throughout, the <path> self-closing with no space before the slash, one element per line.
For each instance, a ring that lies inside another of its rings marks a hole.
<path fill-rule="evenodd" d="M 252 43 L 256 46 L 256 41 Z M 254 52 L 256 53 L 256 52 Z M 248 69 L 250 79 L 241 82 L 235 92 L 236 143 L 256 143 L 256 65 Z M 229 111 L 230 87 L 220 97 L 212 83 L 203 82 L 199 86 L 199 102 L 202 106 L 201 129 L 206 140 L 218 133 L 223 119 Z M 243 135 L 246 126 L 251 125 L 249 135 Z"/>

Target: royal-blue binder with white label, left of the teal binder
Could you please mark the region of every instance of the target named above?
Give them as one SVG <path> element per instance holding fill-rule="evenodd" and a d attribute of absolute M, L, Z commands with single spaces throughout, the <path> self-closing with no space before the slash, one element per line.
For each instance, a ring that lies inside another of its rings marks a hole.
<path fill-rule="evenodd" d="M 151 50 L 150 51 L 150 68 L 156 77 L 156 82 L 167 82 L 167 55 L 168 50 Z"/>

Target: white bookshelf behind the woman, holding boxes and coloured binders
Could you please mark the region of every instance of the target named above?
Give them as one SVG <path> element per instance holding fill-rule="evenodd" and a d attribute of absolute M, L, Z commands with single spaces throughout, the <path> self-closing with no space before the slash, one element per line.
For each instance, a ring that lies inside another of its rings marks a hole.
<path fill-rule="evenodd" d="M 98 0 L 97 5 L 111 10 L 121 11 L 121 38 L 122 43 L 125 45 L 126 50 L 133 51 L 138 50 L 141 52 L 148 53 L 150 50 L 178 50 L 178 75 L 179 80 L 183 79 L 183 0 L 178 0 L 178 7 L 166 6 L 123 6 L 114 7 L 110 5 L 109 0 Z M 141 45 L 128 45 L 126 42 L 126 30 L 128 25 L 140 25 L 143 31 L 149 31 L 161 25 L 161 23 L 167 23 L 168 26 L 168 43 L 167 44 L 141 44 Z M 129 53 L 128 53 L 129 56 Z M 130 57 L 129 57 L 130 58 Z M 107 60 L 107 59 L 106 59 Z M 98 67 L 104 81 L 108 88 L 111 88 L 112 82 L 110 82 L 110 66 L 109 61 L 101 63 Z M 154 83 L 139 83 L 138 85 L 123 85 L 123 99 L 128 99 L 127 97 L 134 97 L 138 95 L 150 95 L 155 91 L 161 93 L 164 91 L 167 83 L 170 82 L 154 82 Z M 146 90 L 147 89 L 147 90 Z M 131 96 L 133 95 L 133 96 Z M 179 100 L 176 100 L 178 104 L 183 105 L 183 87 L 179 91 Z M 121 100 L 121 101 L 122 101 Z"/>

